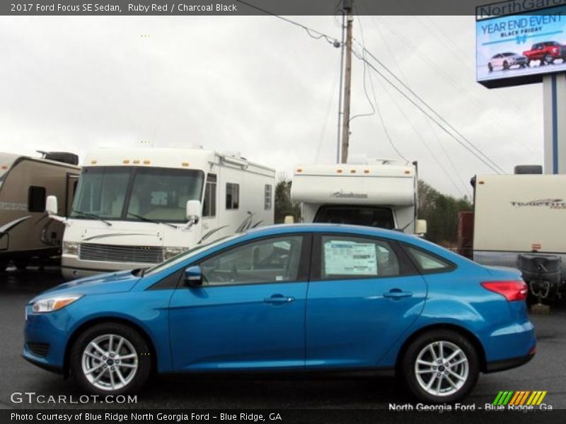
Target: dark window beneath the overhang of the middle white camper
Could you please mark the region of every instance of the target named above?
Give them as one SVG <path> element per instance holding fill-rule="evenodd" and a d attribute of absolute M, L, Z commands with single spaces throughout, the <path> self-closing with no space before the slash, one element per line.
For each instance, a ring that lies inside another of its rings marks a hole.
<path fill-rule="evenodd" d="M 367 227 L 395 228 L 390 208 L 371 206 L 320 206 L 315 223 L 366 225 Z"/>

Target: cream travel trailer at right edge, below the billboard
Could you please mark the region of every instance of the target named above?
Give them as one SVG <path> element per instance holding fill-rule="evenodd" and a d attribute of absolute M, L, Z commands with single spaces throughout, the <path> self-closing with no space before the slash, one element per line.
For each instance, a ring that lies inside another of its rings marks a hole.
<path fill-rule="evenodd" d="M 479 175 L 474 185 L 473 260 L 520 269 L 534 297 L 563 297 L 566 175 Z"/>

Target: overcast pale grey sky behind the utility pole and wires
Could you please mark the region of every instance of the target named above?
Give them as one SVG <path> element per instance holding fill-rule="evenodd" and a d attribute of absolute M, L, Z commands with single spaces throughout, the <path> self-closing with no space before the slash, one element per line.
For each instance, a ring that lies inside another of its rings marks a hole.
<path fill-rule="evenodd" d="M 333 16 L 290 17 L 340 39 Z M 475 82 L 473 16 L 362 16 L 355 44 L 502 167 L 543 163 L 542 85 Z M 363 31 L 363 35 L 362 35 Z M 144 35 L 144 37 L 142 37 Z M 340 49 L 272 16 L 0 17 L 0 151 L 203 146 L 290 177 L 334 163 Z M 386 131 L 441 192 L 492 173 L 366 69 Z M 371 77 L 371 81 L 370 78 Z M 352 115 L 371 112 L 353 59 Z M 350 153 L 398 158 L 378 114 L 351 124 Z"/>

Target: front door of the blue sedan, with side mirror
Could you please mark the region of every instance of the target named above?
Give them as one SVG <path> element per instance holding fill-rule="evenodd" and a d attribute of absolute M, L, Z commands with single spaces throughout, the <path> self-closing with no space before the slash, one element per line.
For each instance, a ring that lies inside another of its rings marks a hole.
<path fill-rule="evenodd" d="M 243 242 L 200 261 L 202 286 L 175 290 L 175 370 L 304 367 L 311 236 Z"/>

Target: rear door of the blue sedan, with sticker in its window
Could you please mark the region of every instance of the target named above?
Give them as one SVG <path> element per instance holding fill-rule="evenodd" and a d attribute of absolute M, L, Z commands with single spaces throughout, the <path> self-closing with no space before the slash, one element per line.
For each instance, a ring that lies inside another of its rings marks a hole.
<path fill-rule="evenodd" d="M 391 240 L 320 235 L 306 305 L 306 367 L 372 367 L 422 312 L 424 278 Z"/>

